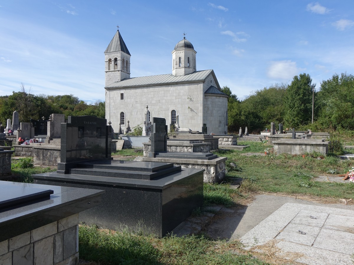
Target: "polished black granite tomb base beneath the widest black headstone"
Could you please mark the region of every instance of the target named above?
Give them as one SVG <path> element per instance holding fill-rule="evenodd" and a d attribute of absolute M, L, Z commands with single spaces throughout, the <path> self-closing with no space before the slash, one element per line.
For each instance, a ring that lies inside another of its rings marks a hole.
<path fill-rule="evenodd" d="M 69 174 L 33 175 L 34 182 L 103 189 L 102 205 L 80 213 L 80 221 L 113 230 L 141 229 L 160 237 L 202 206 L 202 169 L 162 162 L 96 162 L 78 163 Z"/>

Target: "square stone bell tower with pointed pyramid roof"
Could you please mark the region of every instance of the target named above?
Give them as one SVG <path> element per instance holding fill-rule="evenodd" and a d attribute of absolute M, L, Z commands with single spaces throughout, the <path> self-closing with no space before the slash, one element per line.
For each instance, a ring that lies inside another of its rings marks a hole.
<path fill-rule="evenodd" d="M 118 30 L 104 52 L 105 87 L 130 78 L 130 53 Z"/>

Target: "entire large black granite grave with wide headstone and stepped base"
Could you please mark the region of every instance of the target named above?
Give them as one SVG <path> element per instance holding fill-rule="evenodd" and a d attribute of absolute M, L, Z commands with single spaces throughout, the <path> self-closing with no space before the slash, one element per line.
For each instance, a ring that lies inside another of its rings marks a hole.
<path fill-rule="evenodd" d="M 181 169 L 173 163 L 112 161 L 111 127 L 106 124 L 96 117 L 69 116 L 62 124 L 57 172 L 33 175 L 34 182 L 103 189 L 102 205 L 80 213 L 80 221 L 114 230 L 139 226 L 160 237 L 202 206 L 203 170 Z M 158 141 L 154 150 L 160 148 Z"/>

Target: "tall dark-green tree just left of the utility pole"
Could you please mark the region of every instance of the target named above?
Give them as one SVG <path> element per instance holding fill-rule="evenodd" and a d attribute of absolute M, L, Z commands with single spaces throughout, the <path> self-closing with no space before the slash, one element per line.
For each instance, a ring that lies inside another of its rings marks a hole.
<path fill-rule="evenodd" d="M 315 86 L 309 74 L 301 73 L 299 76 L 294 76 L 287 88 L 285 99 L 286 126 L 296 127 L 311 122 L 312 92 Z"/>

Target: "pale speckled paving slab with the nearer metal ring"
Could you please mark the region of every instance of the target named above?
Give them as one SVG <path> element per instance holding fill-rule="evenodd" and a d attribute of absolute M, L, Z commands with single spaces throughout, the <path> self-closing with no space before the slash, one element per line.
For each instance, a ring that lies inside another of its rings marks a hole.
<path fill-rule="evenodd" d="M 299 230 L 306 234 L 301 234 Z M 312 246 L 320 230 L 320 227 L 290 223 L 275 239 Z"/>

